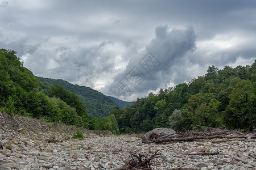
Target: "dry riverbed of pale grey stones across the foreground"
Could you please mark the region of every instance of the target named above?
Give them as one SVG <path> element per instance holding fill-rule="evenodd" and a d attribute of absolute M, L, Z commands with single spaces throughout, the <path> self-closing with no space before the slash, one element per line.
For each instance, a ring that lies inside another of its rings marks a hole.
<path fill-rule="evenodd" d="M 256 140 L 251 138 L 147 145 L 141 134 L 81 129 L 84 139 L 74 139 L 75 127 L 9 118 L 0 113 L 0 169 L 117 169 L 129 160 L 130 151 L 147 156 L 157 150 L 162 156 L 152 160 L 154 169 L 256 169 Z"/>

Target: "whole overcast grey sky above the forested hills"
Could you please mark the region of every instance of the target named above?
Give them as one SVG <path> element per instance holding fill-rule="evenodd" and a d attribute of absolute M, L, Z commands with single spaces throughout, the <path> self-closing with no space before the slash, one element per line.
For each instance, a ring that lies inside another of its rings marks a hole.
<path fill-rule="evenodd" d="M 0 48 L 36 76 L 133 101 L 256 59 L 256 1 L 0 0 Z"/>

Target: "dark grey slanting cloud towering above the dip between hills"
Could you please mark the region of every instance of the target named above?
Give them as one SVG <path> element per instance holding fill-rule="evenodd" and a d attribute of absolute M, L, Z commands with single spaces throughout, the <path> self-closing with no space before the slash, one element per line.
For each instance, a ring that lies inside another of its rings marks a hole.
<path fill-rule="evenodd" d="M 176 66 L 183 65 L 185 54 L 192 52 L 196 46 L 193 28 L 169 29 L 167 25 L 155 28 L 155 38 L 149 42 L 146 50 L 141 55 L 131 58 L 127 69 L 121 75 L 117 75 L 108 87 L 112 95 L 129 100 L 134 93 L 147 94 L 148 91 L 156 91 L 159 87 L 167 88 L 172 75 L 178 71 Z M 148 52 L 152 55 L 144 56 Z M 184 74 L 181 76 L 181 82 L 186 80 Z M 176 79 L 172 80 L 177 83 Z M 123 91 L 125 88 L 120 89 L 123 86 L 120 81 L 129 88 L 129 91 Z"/>

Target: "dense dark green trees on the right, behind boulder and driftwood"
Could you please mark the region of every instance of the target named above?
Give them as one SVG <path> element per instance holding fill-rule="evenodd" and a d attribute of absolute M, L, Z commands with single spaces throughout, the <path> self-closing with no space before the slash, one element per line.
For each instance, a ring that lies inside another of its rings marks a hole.
<path fill-rule="evenodd" d="M 251 66 L 209 66 L 207 74 L 174 88 L 160 89 L 111 112 L 121 133 L 154 128 L 191 130 L 190 125 L 256 128 L 256 60 Z"/>

